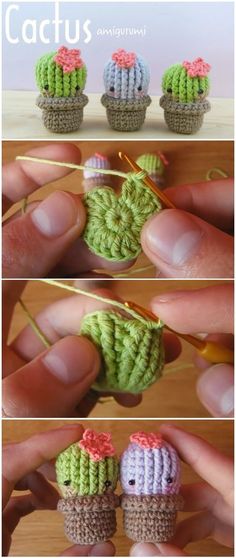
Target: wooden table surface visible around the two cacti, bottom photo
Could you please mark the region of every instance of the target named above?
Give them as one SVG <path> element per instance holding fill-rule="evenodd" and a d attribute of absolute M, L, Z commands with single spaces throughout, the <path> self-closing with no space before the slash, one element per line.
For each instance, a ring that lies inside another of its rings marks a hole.
<path fill-rule="evenodd" d="M 3 420 L 4 442 L 18 442 L 34 433 L 50 428 L 62 426 L 65 421 L 55 420 Z M 70 421 L 72 422 L 72 421 Z M 75 422 L 75 421 L 73 421 Z M 218 450 L 233 456 L 233 421 L 229 420 L 198 420 L 175 421 L 175 424 L 188 432 L 197 434 L 213 444 Z M 137 430 L 158 431 L 160 421 L 94 421 L 83 420 L 85 428 L 94 428 L 97 431 L 108 431 L 118 454 L 128 444 L 129 435 Z M 198 480 L 197 475 L 183 465 L 182 482 L 192 483 Z M 223 479 L 222 479 L 223 480 Z M 118 489 L 120 492 L 120 489 Z M 179 514 L 179 519 L 190 514 Z M 127 556 L 131 541 L 123 533 L 122 513 L 117 512 L 118 529 L 113 538 L 118 556 Z M 11 556 L 58 556 L 63 549 L 70 546 L 63 532 L 63 518 L 57 511 L 36 511 L 23 518 L 13 535 L 10 551 Z M 192 556 L 232 556 L 233 551 L 223 547 L 211 539 L 191 543 L 186 547 L 186 552 Z"/>

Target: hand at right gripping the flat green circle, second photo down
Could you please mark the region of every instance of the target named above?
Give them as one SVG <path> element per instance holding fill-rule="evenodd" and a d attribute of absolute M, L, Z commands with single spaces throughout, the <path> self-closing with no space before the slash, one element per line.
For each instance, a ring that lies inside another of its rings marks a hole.
<path fill-rule="evenodd" d="M 233 277 L 232 178 L 167 188 L 165 193 L 178 209 L 151 217 L 141 236 L 158 276 Z"/>

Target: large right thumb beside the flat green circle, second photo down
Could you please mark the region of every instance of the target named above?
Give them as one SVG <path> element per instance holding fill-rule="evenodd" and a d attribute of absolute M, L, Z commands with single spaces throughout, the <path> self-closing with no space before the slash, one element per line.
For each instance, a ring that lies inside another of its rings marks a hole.
<path fill-rule="evenodd" d="M 141 241 L 164 277 L 233 276 L 233 238 L 185 211 L 165 209 L 151 217 Z"/>

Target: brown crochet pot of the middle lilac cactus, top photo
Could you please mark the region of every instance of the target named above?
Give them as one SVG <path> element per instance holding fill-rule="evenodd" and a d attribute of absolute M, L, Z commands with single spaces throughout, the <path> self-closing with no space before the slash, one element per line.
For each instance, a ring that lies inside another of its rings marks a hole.
<path fill-rule="evenodd" d="M 125 99 L 113 99 L 104 94 L 101 103 L 106 107 L 108 122 L 119 132 L 135 132 L 144 123 L 146 109 L 151 104 L 149 95 L 140 99 L 126 101 Z"/>

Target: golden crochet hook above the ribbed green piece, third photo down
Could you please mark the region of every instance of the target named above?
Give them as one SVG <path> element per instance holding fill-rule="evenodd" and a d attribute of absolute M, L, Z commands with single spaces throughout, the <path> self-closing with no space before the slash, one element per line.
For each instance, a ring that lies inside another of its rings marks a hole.
<path fill-rule="evenodd" d="M 131 308 L 132 310 L 135 310 L 143 318 L 147 318 L 155 322 L 160 321 L 159 318 L 155 314 L 153 314 L 153 312 L 151 312 L 150 310 L 146 310 L 146 308 L 139 306 L 135 302 L 127 301 L 125 302 L 125 306 L 127 306 L 127 308 Z M 164 325 L 164 327 L 168 329 L 168 331 L 175 333 L 175 335 L 181 337 L 182 339 L 193 345 L 197 349 L 199 355 L 205 360 L 214 364 L 219 364 L 221 362 L 224 362 L 226 364 L 233 364 L 234 352 L 231 349 L 228 349 L 228 347 L 225 347 L 224 345 L 221 345 L 214 341 L 205 341 L 204 339 L 198 339 L 197 337 L 194 337 L 194 335 L 178 333 L 167 325 Z"/>

